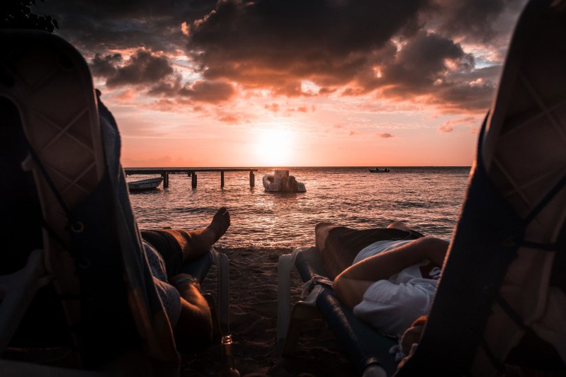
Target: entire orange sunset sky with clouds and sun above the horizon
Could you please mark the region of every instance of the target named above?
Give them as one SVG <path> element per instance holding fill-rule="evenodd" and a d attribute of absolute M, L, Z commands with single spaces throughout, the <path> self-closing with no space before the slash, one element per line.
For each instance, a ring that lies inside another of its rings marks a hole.
<path fill-rule="evenodd" d="M 524 0 L 38 1 L 133 166 L 470 166 Z"/>

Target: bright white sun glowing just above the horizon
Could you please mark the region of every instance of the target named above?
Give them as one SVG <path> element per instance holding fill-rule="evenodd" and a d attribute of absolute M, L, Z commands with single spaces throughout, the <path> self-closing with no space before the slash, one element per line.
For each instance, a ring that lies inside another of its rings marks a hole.
<path fill-rule="evenodd" d="M 256 154 L 261 166 L 288 166 L 293 157 L 293 134 L 288 129 L 262 129 Z"/>

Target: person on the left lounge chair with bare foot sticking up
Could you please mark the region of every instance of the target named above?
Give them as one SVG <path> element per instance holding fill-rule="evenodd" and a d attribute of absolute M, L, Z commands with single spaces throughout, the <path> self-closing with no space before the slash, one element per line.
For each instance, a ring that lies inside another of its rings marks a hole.
<path fill-rule="evenodd" d="M 155 286 L 181 349 L 206 349 L 212 342 L 213 318 L 198 281 L 179 271 L 184 262 L 207 253 L 229 226 L 230 213 L 222 207 L 206 228 L 141 232 Z"/>

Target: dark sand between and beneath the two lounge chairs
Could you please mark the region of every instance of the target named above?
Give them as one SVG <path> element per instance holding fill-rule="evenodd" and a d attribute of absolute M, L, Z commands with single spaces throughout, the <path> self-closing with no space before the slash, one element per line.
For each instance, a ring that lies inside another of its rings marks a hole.
<path fill-rule="evenodd" d="M 292 250 L 218 248 L 230 258 L 230 330 L 234 357 L 242 376 L 353 376 L 353 369 L 332 330 L 322 321 L 305 325 L 295 355 L 276 351 L 277 260 Z M 293 271 L 292 302 L 300 298 L 300 279 Z M 215 269 L 203 290 L 215 292 Z M 222 368 L 220 346 L 183 354 L 181 376 L 217 376 Z"/>

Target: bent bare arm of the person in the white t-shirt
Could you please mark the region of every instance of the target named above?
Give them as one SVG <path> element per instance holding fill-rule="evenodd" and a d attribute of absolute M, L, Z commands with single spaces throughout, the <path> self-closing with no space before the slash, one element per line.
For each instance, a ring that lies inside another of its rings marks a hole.
<path fill-rule="evenodd" d="M 423 237 L 400 248 L 369 257 L 352 265 L 334 279 L 334 291 L 339 300 L 353 308 L 362 301 L 364 292 L 380 279 L 389 279 L 402 269 L 421 260 L 431 260 L 441 266 L 448 243 L 438 238 Z"/>

